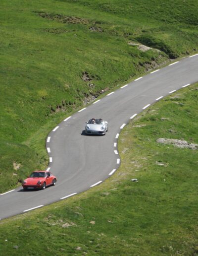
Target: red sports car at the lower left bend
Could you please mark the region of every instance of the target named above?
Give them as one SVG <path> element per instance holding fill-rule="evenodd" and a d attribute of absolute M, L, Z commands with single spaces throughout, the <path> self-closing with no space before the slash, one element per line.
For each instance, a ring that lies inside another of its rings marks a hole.
<path fill-rule="evenodd" d="M 27 189 L 41 189 L 45 190 L 46 187 L 55 186 L 57 178 L 47 171 L 35 171 L 22 182 L 24 190 Z"/>

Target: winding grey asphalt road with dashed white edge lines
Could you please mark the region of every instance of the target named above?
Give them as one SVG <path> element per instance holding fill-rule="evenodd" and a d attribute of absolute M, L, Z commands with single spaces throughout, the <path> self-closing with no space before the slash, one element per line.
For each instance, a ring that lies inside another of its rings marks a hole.
<path fill-rule="evenodd" d="M 97 186 L 119 167 L 117 139 L 121 129 L 150 104 L 198 81 L 198 54 L 139 77 L 65 119 L 48 135 L 48 170 L 55 187 L 24 192 L 22 187 L 0 194 L 0 219 L 27 212 Z M 85 122 L 102 118 L 105 136 L 85 135 Z"/>

